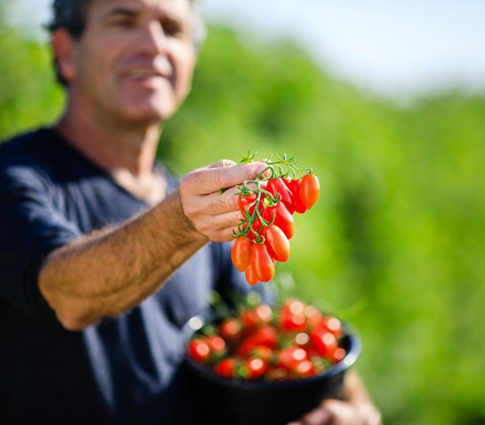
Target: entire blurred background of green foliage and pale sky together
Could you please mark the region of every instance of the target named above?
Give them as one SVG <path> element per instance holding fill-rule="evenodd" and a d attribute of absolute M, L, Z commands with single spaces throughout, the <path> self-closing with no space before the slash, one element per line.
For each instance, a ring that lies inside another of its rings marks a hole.
<path fill-rule="evenodd" d="M 194 88 L 159 149 L 322 183 L 277 279 L 350 321 L 391 425 L 485 424 L 485 4 L 204 0 Z M 399 3 L 399 4 L 397 4 Z M 49 0 L 0 0 L 0 138 L 56 119 Z"/>

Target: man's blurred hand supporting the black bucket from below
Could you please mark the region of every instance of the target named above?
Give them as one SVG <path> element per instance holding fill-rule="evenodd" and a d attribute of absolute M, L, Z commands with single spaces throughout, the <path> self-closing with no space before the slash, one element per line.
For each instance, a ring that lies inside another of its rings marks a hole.
<path fill-rule="evenodd" d="M 326 399 L 289 425 L 381 425 L 381 413 L 373 406 L 358 375 L 344 381 L 345 400 Z"/>

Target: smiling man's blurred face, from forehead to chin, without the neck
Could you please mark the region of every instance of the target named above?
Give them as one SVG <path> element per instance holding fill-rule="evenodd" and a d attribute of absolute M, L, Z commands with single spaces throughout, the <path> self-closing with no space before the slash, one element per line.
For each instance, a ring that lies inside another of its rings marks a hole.
<path fill-rule="evenodd" d="M 168 119 L 192 81 L 192 19 L 189 0 L 94 0 L 75 45 L 73 102 L 124 122 Z"/>

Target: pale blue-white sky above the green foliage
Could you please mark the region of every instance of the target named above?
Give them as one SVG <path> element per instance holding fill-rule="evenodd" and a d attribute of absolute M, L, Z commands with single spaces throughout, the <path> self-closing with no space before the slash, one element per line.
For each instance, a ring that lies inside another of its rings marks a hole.
<path fill-rule="evenodd" d="M 50 1 L 17 0 L 18 16 L 40 27 L 49 19 Z M 202 4 L 207 19 L 240 29 L 242 37 L 291 37 L 330 73 L 384 97 L 405 99 L 456 86 L 485 93 L 483 0 Z"/>

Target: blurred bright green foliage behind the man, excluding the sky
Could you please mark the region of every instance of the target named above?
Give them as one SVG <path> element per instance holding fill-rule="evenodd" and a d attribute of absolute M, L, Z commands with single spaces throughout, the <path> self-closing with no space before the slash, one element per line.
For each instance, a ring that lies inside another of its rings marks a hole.
<path fill-rule="evenodd" d="M 485 97 L 398 107 L 287 40 L 211 29 L 160 157 L 179 174 L 250 149 L 313 167 L 322 198 L 296 216 L 281 281 L 358 328 L 357 368 L 385 423 L 484 423 Z M 0 49 L 0 135 L 55 117 L 46 50 L 5 28 Z"/>

